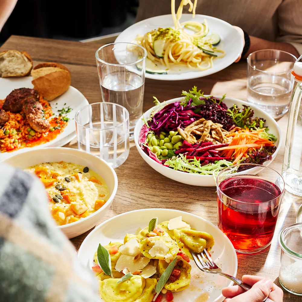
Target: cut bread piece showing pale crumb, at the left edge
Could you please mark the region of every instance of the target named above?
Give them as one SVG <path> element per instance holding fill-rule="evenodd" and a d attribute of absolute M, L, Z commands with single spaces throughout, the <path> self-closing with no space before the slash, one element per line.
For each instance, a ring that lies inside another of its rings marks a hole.
<path fill-rule="evenodd" d="M 26 51 L 5 50 L 0 53 L 2 78 L 27 76 L 33 68 L 31 56 Z"/>

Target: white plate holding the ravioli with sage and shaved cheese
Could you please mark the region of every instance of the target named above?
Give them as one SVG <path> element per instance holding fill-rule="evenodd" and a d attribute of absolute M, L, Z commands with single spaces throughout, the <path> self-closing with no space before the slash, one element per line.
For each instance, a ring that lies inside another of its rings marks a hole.
<path fill-rule="evenodd" d="M 108 244 L 110 241 L 123 242 L 126 233 L 135 233 L 140 227 L 148 225 L 153 217 L 158 217 L 158 222 L 166 221 L 178 216 L 186 221 L 196 230 L 210 233 L 215 240 L 214 247 L 211 251 L 214 262 L 222 269 L 223 272 L 236 276 L 237 273 L 237 256 L 235 249 L 230 240 L 214 224 L 196 215 L 170 209 L 143 209 L 127 212 L 115 216 L 99 226 L 97 226 L 84 239 L 78 252 L 79 261 L 87 268 L 91 269 L 93 265 L 93 256 L 98 248 L 98 244 Z M 191 283 L 189 288 L 173 293 L 174 302 L 194 302 L 199 296 L 199 301 L 221 302 L 224 297 L 221 294 L 222 288 L 230 286 L 233 282 L 224 277 L 206 274 L 198 270 L 193 260 L 190 260 L 192 266 Z M 201 275 L 197 281 L 197 274 Z M 203 296 L 202 296 L 203 295 Z M 208 297 L 208 299 L 206 299 Z M 101 301 L 103 301 L 101 299 Z M 164 302 L 165 299 L 162 300 Z"/>

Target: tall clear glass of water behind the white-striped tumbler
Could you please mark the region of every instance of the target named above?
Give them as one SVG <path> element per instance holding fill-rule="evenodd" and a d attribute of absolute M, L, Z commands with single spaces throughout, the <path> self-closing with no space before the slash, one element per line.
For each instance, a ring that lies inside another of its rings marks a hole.
<path fill-rule="evenodd" d="M 145 48 L 124 42 L 104 45 L 95 53 L 103 102 L 128 110 L 130 139 L 143 114 L 146 56 Z"/>

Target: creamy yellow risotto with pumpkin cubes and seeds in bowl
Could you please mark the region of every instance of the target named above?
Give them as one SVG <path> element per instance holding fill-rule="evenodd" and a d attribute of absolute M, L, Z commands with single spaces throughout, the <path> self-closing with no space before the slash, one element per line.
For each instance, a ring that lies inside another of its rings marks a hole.
<path fill-rule="evenodd" d="M 50 212 L 59 225 L 87 217 L 110 197 L 104 179 L 89 167 L 71 162 L 46 162 L 25 170 L 43 182 Z"/>

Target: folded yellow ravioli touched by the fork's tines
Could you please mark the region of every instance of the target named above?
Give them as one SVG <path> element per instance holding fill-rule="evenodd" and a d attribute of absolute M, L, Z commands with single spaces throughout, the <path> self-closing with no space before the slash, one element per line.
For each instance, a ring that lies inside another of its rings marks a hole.
<path fill-rule="evenodd" d="M 175 229 L 174 236 L 178 246 L 189 255 L 191 254 L 189 250 L 192 250 L 195 253 L 200 253 L 205 248 L 210 250 L 214 245 L 213 236 L 206 232 L 189 229 Z"/>

